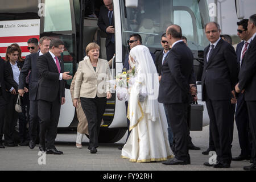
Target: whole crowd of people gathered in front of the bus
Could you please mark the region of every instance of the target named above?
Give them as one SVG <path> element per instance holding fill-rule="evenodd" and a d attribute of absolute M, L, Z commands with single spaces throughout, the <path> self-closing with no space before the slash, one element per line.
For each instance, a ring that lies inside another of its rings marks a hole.
<path fill-rule="evenodd" d="M 110 60 L 115 50 L 113 3 L 104 3 L 98 26 L 108 34 L 106 52 Z M 204 165 L 229 168 L 232 160 L 250 160 L 252 164 L 243 168 L 256 170 L 256 14 L 237 26 L 242 42 L 236 51 L 230 36 L 221 35 L 218 23 L 209 22 L 204 27 L 210 44 L 204 49 L 202 101 L 207 105 L 210 127 L 209 148 L 203 154 L 217 154 L 216 163 Z M 159 41 L 163 50 L 154 55 L 142 45 L 141 35 L 130 35 L 130 53 L 123 61 L 123 71 L 133 69 L 135 80 L 129 86 L 129 97 L 125 97 L 128 135 L 119 149 L 122 158 L 130 162 L 186 165 L 191 163 L 188 151 L 200 150 L 192 143 L 187 121 L 189 103 L 197 101 L 193 54 L 176 24 L 168 26 Z M 14 133 L 19 118 L 20 146 L 33 149 L 39 132 L 40 151 L 63 154 L 56 149 L 55 138 L 60 107 L 65 103 L 65 80 L 72 79 L 60 59 L 64 42 L 43 36 L 39 41 L 29 39 L 27 44 L 31 54 L 25 60 L 18 44 L 8 46 L 5 60 L 0 60 L 0 148 L 18 146 Z M 97 43 L 89 43 L 85 52 L 71 84 L 79 119 L 76 147 L 82 147 L 82 135 L 88 134 L 88 149 L 96 154 L 106 101 L 112 97 L 110 63 L 99 58 Z M 158 78 L 152 82 L 144 75 Z M 15 111 L 18 96 L 21 113 Z M 117 97 L 123 100 L 120 93 Z M 241 154 L 232 158 L 234 118 Z"/>

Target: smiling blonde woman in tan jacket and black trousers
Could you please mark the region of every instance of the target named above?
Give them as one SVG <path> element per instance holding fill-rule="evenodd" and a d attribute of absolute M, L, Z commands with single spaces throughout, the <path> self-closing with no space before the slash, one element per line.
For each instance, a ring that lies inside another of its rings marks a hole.
<path fill-rule="evenodd" d="M 73 105 L 77 107 L 81 100 L 82 110 L 88 121 L 89 146 L 91 154 L 96 154 L 98 134 L 102 115 L 106 107 L 106 100 L 112 97 L 110 93 L 110 69 L 108 61 L 99 59 L 100 46 L 89 43 L 86 56 L 79 62 L 76 73 Z"/>

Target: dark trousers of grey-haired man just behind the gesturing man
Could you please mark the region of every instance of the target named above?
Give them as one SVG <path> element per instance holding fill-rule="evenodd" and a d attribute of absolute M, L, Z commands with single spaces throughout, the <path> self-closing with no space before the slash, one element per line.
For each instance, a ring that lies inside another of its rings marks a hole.
<path fill-rule="evenodd" d="M 38 101 L 30 101 L 30 140 L 36 140 L 38 133 Z"/>

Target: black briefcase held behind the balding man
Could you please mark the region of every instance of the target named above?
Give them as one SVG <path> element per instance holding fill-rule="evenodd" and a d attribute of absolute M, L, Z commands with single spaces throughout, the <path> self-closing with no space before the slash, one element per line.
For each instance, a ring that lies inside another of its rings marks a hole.
<path fill-rule="evenodd" d="M 189 105 L 188 112 L 188 126 L 190 131 L 203 130 L 203 110 L 204 105 L 197 104 L 197 102 Z"/>

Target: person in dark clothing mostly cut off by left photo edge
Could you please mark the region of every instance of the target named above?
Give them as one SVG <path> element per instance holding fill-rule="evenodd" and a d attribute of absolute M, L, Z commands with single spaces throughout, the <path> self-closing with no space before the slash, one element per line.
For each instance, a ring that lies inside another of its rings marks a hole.
<path fill-rule="evenodd" d="M 7 102 L 7 93 L 5 90 L 5 60 L 0 56 L 0 148 L 3 146 L 3 119 L 5 118 L 5 105 Z"/>

